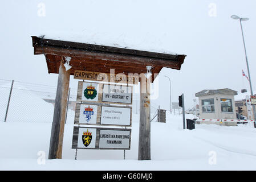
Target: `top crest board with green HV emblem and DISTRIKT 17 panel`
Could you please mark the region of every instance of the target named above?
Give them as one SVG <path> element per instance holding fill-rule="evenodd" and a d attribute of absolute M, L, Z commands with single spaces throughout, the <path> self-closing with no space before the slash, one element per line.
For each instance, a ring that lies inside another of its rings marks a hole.
<path fill-rule="evenodd" d="M 76 101 L 132 105 L 132 86 L 79 81 Z"/>

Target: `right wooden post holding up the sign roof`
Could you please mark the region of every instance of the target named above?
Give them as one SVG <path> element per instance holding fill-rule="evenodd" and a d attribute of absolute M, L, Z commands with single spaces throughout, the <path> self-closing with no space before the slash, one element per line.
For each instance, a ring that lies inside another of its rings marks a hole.
<path fill-rule="evenodd" d="M 151 160 L 150 86 L 151 78 L 141 77 L 138 160 Z"/>

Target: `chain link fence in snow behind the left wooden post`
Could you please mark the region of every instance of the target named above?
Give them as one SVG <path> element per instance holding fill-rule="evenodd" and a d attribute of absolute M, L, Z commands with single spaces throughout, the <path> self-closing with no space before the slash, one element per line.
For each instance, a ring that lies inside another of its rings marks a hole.
<path fill-rule="evenodd" d="M 0 79 L 0 93 L 0 122 L 52 122 L 55 86 Z M 75 101 L 70 94 L 67 123 L 74 123 Z"/>

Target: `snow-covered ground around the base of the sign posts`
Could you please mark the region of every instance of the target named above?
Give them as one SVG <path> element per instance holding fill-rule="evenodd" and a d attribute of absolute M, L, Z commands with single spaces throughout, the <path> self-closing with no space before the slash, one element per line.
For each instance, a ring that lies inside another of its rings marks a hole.
<path fill-rule="evenodd" d="M 151 160 L 138 161 L 139 114 L 133 114 L 131 150 L 71 149 L 73 122 L 64 130 L 62 159 L 47 160 L 51 123 L 0 122 L 0 170 L 255 170 L 256 129 L 196 125 L 182 129 L 182 115 L 152 122 Z M 187 114 L 186 118 L 193 118 Z M 44 152 L 46 161 L 44 164 Z"/>

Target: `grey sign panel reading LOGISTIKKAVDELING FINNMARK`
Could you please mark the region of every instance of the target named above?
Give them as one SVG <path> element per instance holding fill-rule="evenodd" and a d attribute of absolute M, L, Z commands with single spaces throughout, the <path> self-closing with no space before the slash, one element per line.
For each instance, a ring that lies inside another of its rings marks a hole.
<path fill-rule="evenodd" d="M 130 131 L 100 130 L 99 148 L 129 148 Z"/>

